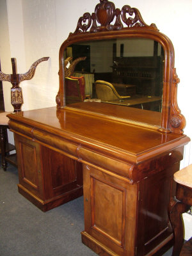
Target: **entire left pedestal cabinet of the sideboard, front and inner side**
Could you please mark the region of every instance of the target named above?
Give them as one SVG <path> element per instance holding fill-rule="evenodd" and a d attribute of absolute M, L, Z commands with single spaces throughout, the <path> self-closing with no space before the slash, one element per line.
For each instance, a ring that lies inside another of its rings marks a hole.
<path fill-rule="evenodd" d="M 82 164 L 15 134 L 19 192 L 42 211 L 83 195 Z"/>

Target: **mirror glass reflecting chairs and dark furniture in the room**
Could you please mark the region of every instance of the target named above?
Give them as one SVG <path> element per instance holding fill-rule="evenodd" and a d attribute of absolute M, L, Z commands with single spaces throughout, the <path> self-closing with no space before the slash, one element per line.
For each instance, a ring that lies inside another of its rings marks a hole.
<path fill-rule="evenodd" d="M 71 69 L 65 76 L 67 104 L 98 101 L 161 112 L 164 52 L 158 42 L 145 38 L 81 42 L 65 49 L 64 60 L 66 70 Z"/>

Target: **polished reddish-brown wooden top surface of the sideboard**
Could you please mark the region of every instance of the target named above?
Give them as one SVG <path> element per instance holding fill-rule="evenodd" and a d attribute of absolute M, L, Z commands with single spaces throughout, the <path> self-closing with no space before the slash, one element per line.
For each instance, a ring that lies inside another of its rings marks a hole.
<path fill-rule="evenodd" d="M 102 115 L 92 115 L 73 108 L 44 108 L 21 111 L 8 115 L 12 122 L 19 122 L 32 129 L 48 132 L 52 136 L 67 138 L 89 147 L 108 147 L 134 156 L 155 152 L 162 148 L 167 150 L 185 145 L 189 138 L 184 134 L 161 133 L 157 130 L 139 127 L 118 119 L 105 118 Z M 10 125 L 12 128 L 12 125 Z M 158 148 L 161 148 L 158 149 Z M 163 152 L 163 151 L 162 151 Z"/>

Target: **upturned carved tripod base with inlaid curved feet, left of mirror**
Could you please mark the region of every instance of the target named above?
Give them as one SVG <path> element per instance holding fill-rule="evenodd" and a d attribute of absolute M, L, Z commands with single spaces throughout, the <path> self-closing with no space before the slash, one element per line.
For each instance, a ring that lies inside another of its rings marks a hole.
<path fill-rule="evenodd" d="M 24 80 L 31 79 L 35 74 L 36 66 L 42 61 L 46 61 L 48 59 L 49 57 L 40 58 L 31 65 L 28 72 L 25 74 L 17 74 L 16 59 L 12 58 L 13 74 L 4 74 L 0 71 L 0 81 L 8 81 L 12 83 L 11 103 L 14 108 L 14 112 L 20 111 L 21 105 L 23 104 L 22 88 L 19 87 L 19 83 Z"/>

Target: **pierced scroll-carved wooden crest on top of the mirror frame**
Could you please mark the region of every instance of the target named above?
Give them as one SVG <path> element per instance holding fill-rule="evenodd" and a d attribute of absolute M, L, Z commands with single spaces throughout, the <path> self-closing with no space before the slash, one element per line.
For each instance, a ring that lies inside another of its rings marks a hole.
<path fill-rule="evenodd" d="M 127 15 L 131 17 L 127 17 Z M 111 22 L 115 21 L 114 24 Z M 100 0 L 100 3 L 95 7 L 95 13 L 86 12 L 79 18 L 77 28 L 74 33 L 84 33 L 90 29 L 90 32 L 98 31 L 113 31 L 120 30 L 127 26 L 129 28 L 150 28 L 158 30 L 155 24 L 148 26 L 141 17 L 140 11 L 136 8 L 131 8 L 125 5 L 122 10 L 115 8 L 115 4 L 108 0 Z"/>

